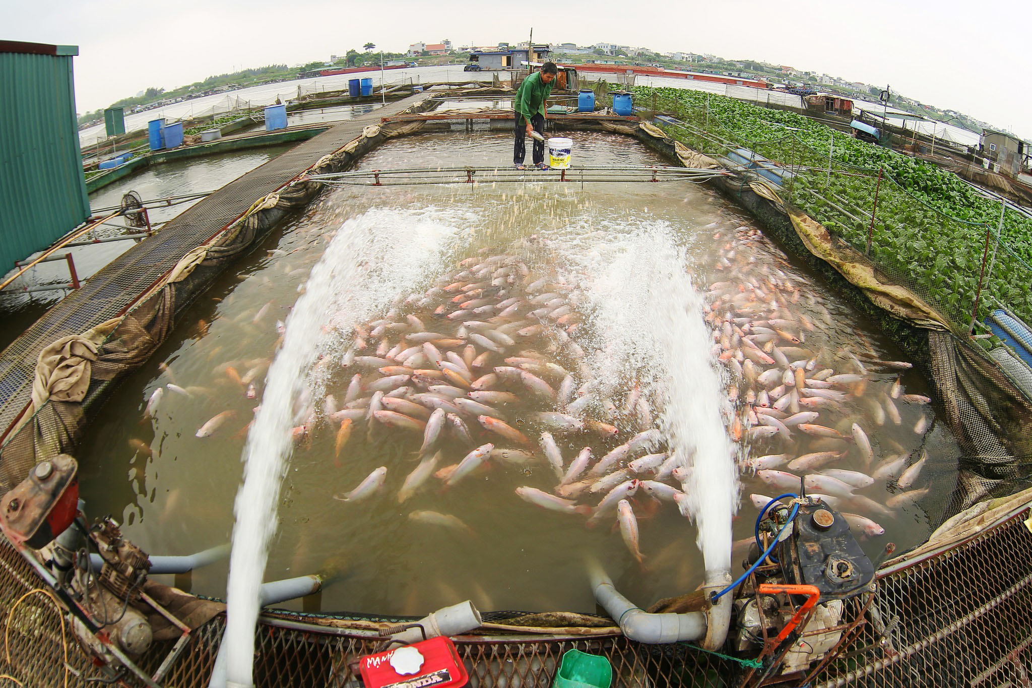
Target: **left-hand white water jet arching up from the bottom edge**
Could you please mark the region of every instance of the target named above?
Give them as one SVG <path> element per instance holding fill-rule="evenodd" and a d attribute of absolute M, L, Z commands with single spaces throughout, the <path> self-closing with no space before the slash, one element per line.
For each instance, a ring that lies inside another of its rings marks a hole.
<path fill-rule="evenodd" d="M 337 349 L 352 326 L 383 313 L 440 269 L 470 226 L 467 212 L 374 208 L 348 220 L 315 265 L 286 322 L 268 370 L 261 407 L 244 448 L 223 638 L 226 679 L 252 685 L 259 588 L 278 525 L 280 485 L 290 458 L 291 429 L 309 415 L 310 372 L 320 353 Z M 295 409 L 300 406 L 300 411 Z"/>

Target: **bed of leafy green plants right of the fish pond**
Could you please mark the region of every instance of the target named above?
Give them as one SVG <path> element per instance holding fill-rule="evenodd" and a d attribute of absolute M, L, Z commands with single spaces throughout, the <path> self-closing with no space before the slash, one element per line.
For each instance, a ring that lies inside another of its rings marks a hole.
<path fill-rule="evenodd" d="M 679 123 L 668 135 L 697 151 L 725 156 L 743 148 L 789 169 L 787 200 L 957 330 L 970 327 L 976 300 L 979 320 L 1003 305 L 1032 322 L 1032 219 L 956 174 L 795 112 L 682 89 L 635 94 L 674 113 Z"/>

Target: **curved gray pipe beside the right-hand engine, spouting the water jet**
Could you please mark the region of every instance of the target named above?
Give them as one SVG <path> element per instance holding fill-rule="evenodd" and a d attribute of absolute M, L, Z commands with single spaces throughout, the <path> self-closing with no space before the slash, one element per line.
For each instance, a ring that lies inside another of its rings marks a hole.
<path fill-rule="evenodd" d="M 731 624 L 731 595 L 724 595 L 705 612 L 649 614 L 621 595 L 613 581 L 598 564 L 589 562 L 588 577 L 594 598 L 616 621 L 623 634 L 638 643 L 681 643 L 703 638 L 702 647 L 718 650 L 728 637 Z M 707 574 L 706 596 L 731 583 L 728 571 Z M 727 583 L 724 583 L 727 581 Z"/>

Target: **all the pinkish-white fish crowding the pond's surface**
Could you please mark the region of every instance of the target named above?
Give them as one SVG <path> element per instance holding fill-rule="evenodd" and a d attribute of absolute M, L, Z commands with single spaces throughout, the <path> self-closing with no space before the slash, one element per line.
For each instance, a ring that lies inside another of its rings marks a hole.
<path fill-rule="evenodd" d="M 924 408 L 928 397 L 904 393 L 899 375 L 910 364 L 881 360 L 873 347 L 823 346 L 821 330 L 836 327 L 825 295 L 780 254 L 743 250 L 766 241 L 759 230 L 721 229 L 713 239 L 721 244 L 716 271 L 727 279 L 709 285 L 705 318 L 714 364 L 728 373 L 734 412 L 725 422 L 740 446 L 749 499 L 762 509 L 768 495 L 798 493 L 805 480 L 807 493 L 843 513 L 858 533 L 882 534 L 878 519 L 929 491 L 921 485 L 928 457 L 914 447 L 934 417 Z M 492 466 L 542 469 L 554 480 L 536 479 L 509 498 L 610 527 L 643 563 L 639 519 L 660 507 L 687 517 L 691 467 L 665 451 L 655 422 L 663 409 L 648 390 L 595 379 L 592 352 L 581 343 L 591 340 L 581 336 L 590 324 L 576 308 L 576 281 L 514 254 L 467 258 L 383 318 L 343 332 L 352 343 L 316 364 L 328 393 L 297 400 L 293 437 L 311 447 L 314 434 L 331 433 L 342 468 L 357 443 L 375 447 L 396 433 L 411 445 L 411 462 L 367 476 L 342 470 L 348 484 L 327 497 L 347 504 L 390 493 L 404 510 L 419 492 L 471 489 L 471 477 Z M 268 310 L 246 317 L 259 324 Z M 327 327 L 335 327 L 332 319 Z M 282 340 L 283 323 L 276 328 Z M 230 362 L 247 365 L 243 374 L 232 364 L 218 370 L 257 399 L 269 360 Z M 163 395 L 197 392 L 159 387 L 144 417 Z M 220 431 L 235 415 L 214 416 L 196 436 Z M 911 447 L 879 432 L 886 424 L 902 429 L 904 417 L 917 440 Z M 456 533 L 476 530 L 463 520 L 471 515 L 404 516 Z"/>

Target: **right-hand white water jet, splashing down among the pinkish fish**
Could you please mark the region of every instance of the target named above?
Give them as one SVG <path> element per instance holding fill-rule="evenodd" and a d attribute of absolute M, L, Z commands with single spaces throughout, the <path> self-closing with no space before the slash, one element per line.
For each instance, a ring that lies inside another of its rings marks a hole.
<path fill-rule="evenodd" d="M 686 249 L 666 222 L 593 226 L 594 232 L 573 228 L 579 245 L 569 261 L 581 272 L 575 279 L 588 298 L 599 339 L 590 359 L 595 379 L 613 386 L 637 380 L 660 409 L 670 451 L 691 467 L 684 488 L 706 570 L 729 570 L 740 491 L 723 423 L 730 402 L 710 353 L 713 342 Z M 585 251 L 586 243 L 592 248 Z"/>

